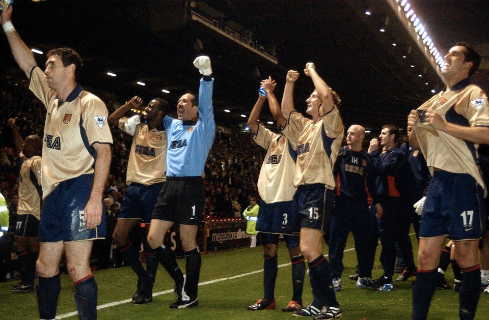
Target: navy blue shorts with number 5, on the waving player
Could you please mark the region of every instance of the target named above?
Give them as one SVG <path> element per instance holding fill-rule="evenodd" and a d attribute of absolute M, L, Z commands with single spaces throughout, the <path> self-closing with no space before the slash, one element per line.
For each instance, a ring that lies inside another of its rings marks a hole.
<path fill-rule="evenodd" d="M 93 174 L 61 182 L 44 201 L 39 224 L 39 242 L 71 242 L 105 238 L 105 214 L 100 199 L 102 221 L 94 229 L 87 229 L 85 206 L 92 192 Z"/>

